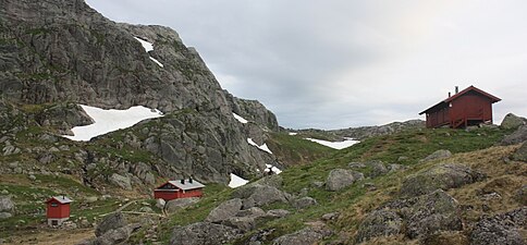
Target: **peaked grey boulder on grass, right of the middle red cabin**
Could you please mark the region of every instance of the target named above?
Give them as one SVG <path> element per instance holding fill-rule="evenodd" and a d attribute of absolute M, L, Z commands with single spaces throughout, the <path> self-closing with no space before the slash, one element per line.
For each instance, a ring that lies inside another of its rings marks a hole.
<path fill-rule="evenodd" d="M 243 200 L 243 209 L 261 207 L 278 201 L 287 203 L 287 195 L 272 186 L 257 185 L 253 194 Z"/>

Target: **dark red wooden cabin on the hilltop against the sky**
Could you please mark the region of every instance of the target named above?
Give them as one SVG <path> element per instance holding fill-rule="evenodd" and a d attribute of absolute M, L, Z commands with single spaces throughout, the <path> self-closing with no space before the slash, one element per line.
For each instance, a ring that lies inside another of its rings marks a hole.
<path fill-rule="evenodd" d="M 450 126 L 453 128 L 492 123 L 492 103 L 501 99 L 477 87 L 462 91 L 455 87 L 454 96 L 420 112 L 427 115 L 427 127 Z"/>

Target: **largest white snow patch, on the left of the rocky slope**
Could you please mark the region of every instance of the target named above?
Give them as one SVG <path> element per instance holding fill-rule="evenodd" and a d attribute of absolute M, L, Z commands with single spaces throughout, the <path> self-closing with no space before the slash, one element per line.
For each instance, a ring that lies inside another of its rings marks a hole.
<path fill-rule="evenodd" d="M 152 111 L 142 106 L 131 107 L 126 110 L 105 110 L 84 105 L 79 106 L 94 119 L 95 123 L 73 127 L 74 136 L 64 135 L 64 137 L 76 142 L 87 142 L 93 137 L 133 126 L 145 119 L 162 117 L 160 111 Z"/>

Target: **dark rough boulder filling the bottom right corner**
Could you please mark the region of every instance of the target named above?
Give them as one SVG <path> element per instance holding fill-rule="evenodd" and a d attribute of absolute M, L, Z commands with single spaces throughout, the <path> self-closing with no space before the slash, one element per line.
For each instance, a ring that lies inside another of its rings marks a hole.
<path fill-rule="evenodd" d="M 471 245 L 525 245 L 527 207 L 483 218 L 476 223 L 470 235 Z M 523 231 L 520 231 L 523 230 Z"/>

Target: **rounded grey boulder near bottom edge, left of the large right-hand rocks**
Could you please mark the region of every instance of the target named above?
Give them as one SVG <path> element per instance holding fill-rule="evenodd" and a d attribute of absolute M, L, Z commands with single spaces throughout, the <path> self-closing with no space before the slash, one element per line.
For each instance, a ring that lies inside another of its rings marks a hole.
<path fill-rule="evenodd" d="M 356 242 L 363 243 L 372 237 L 396 235 L 401 232 L 402 225 L 403 219 L 395 211 L 372 211 L 360 223 Z"/>

